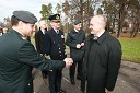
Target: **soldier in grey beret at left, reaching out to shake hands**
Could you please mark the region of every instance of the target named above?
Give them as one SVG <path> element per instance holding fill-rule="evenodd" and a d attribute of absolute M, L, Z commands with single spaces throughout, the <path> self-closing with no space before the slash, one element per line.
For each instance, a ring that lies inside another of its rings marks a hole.
<path fill-rule="evenodd" d="M 14 11 L 12 28 L 0 36 L 0 93 L 33 93 L 32 69 L 69 67 L 72 59 L 49 60 L 37 54 L 26 36 L 35 31 L 37 19 L 28 11 Z"/>

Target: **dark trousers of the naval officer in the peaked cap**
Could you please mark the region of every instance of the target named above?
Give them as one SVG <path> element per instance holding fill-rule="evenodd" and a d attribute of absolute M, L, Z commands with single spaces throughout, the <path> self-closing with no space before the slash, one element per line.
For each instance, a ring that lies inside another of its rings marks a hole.
<path fill-rule="evenodd" d="M 57 93 L 61 88 L 62 69 L 49 71 L 49 91 Z"/>

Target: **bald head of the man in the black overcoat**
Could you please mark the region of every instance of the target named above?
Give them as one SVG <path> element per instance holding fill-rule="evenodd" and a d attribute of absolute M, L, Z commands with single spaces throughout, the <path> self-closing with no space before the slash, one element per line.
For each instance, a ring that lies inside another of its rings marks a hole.
<path fill-rule="evenodd" d="M 91 19 L 90 28 L 91 34 L 100 34 L 105 30 L 106 20 L 103 15 L 95 15 Z"/>

